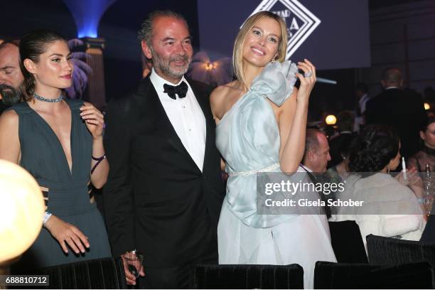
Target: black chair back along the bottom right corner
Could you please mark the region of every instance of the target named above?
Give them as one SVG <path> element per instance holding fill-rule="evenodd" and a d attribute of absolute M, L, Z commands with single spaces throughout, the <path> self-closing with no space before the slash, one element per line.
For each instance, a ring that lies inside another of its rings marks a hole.
<path fill-rule="evenodd" d="M 316 262 L 314 289 L 430 289 L 428 262 L 380 266 Z"/>

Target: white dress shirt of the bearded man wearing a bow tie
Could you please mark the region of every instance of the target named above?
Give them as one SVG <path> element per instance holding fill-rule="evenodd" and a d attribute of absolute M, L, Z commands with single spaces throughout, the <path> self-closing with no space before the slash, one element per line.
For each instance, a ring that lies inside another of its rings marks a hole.
<path fill-rule="evenodd" d="M 203 171 L 205 153 L 205 117 L 198 100 L 196 100 L 195 95 L 193 95 L 192 88 L 188 81 L 183 77 L 180 82 L 176 84 L 180 85 L 181 82 L 186 82 L 188 85 L 186 97 L 180 99 L 178 95 L 176 95 L 176 100 L 173 100 L 166 92 L 163 92 L 163 85 L 176 85 L 157 75 L 154 68 L 151 70 L 149 79 L 154 85 L 157 95 L 159 95 L 159 100 L 165 109 L 169 121 L 171 121 L 173 129 L 175 129 L 180 138 L 181 143 L 183 143 L 184 148 L 186 148 L 200 171 Z"/>

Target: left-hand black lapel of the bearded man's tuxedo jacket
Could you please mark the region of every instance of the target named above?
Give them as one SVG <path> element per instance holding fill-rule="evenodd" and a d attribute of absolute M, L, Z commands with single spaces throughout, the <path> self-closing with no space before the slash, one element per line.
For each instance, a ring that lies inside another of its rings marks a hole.
<path fill-rule="evenodd" d="M 195 161 L 190 157 L 190 154 L 181 142 L 180 137 L 178 137 L 176 130 L 173 128 L 151 80 L 149 80 L 149 77 L 146 77 L 142 82 L 144 85 L 141 87 L 141 92 L 139 92 L 139 94 L 144 97 L 146 114 L 149 116 L 149 122 L 159 128 L 159 133 L 165 136 L 165 139 L 167 139 L 177 151 L 185 155 L 193 166 L 198 168 Z"/>

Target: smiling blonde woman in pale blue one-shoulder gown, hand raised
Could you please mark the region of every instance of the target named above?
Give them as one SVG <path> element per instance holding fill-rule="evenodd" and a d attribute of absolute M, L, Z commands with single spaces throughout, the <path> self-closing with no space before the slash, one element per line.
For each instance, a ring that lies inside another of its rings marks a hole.
<path fill-rule="evenodd" d="M 308 60 L 284 61 L 286 43 L 282 18 L 269 11 L 249 17 L 233 51 L 237 80 L 210 97 L 216 144 L 230 175 L 218 225 L 219 262 L 300 264 L 304 286 L 313 288 L 316 261 L 336 261 L 326 216 L 257 213 L 257 173 L 291 176 L 301 171 L 304 154 L 316 68 Z"/>

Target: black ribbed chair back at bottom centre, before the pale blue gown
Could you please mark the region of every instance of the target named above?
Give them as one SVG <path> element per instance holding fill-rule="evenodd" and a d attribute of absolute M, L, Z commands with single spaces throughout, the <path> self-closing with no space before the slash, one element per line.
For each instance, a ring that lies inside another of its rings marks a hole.
<path fill-rule="evenodd" d="M 209 265 L 193 268 L 193 289 L 303 289 L 304 269 L 299 264 Z"/>

